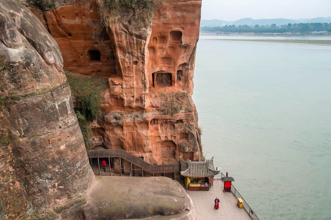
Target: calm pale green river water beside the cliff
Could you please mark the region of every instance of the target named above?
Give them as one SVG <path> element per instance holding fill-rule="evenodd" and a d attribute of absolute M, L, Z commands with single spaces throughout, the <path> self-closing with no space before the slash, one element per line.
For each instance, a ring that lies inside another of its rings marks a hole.
<path fill-rule="evenodd" d="M 194 75 L 206 158 L 260 220 L 331 219 L 331 46 L 215 38 Z"/>

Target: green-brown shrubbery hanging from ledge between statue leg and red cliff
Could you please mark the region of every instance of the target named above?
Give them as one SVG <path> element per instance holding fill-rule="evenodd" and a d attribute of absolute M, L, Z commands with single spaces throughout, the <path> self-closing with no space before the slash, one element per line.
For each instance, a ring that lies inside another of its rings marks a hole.
<path fill-rule="evenodd" d="M 101 117 L 101 97 L 108 88 L 108 79 L 70 72 L 66 72 L 66 76 L 79 111 L 88 121 L 99 119 Z"/>

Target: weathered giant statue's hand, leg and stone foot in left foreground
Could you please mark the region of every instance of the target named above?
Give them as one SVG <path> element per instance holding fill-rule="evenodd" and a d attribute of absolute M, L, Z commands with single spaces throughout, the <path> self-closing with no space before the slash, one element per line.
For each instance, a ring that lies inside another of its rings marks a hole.
<path fill-rule="evenodd" d="M 169 178 L 96 182 L 62 66 L 41 22 L 0 1 L 0 219 L 195 219 Z"/>

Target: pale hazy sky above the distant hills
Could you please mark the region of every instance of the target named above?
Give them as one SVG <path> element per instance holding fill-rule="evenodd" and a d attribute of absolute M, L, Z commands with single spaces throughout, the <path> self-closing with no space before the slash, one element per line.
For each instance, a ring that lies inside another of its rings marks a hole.
<path fill-rule="evenodd" d="M 201 19 L 316 18 L 331 16 L 331 0 L 202 0 Z"/>

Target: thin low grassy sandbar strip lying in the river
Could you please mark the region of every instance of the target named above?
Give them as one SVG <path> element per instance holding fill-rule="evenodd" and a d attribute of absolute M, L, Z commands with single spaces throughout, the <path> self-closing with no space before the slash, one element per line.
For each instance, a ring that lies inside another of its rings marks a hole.
<path fill-rule="evenodd" d="M 331 46 L 331 40 L 264 40 L 264 39 L 213 39 L 222 41 L 251 41 L 265 43 L 285 43 L 285 44 L 308 44 L 308 45 L 323 45 Z"/>

